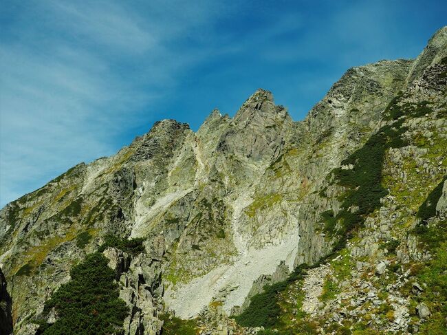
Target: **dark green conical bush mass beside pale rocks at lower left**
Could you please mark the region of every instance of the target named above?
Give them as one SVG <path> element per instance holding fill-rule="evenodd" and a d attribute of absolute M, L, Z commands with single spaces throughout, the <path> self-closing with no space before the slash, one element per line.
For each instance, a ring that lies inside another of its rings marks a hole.
<path fill-rule="evenodd" d="M 58 319 L 52 325 L 40 324 L 43 335 L 107 335 L 118 334 L 129 311 L 119 298 L 115 272 L 99 252 L 87 255 L 85 261 L 72 268 L 72 279 L 62 285 L 45 303 L 44 311 L 56 310 Z"/>

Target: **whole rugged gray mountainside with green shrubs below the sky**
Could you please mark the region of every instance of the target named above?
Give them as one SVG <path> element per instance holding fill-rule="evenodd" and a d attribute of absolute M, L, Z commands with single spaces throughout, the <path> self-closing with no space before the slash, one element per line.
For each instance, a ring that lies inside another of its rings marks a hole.
<path fill-rule="evenodd" d="M 442 28 L 300 122 L 263 89 L 156 122 L 11 202 L 1 334 L 445 334 L 446 57 Z"/>

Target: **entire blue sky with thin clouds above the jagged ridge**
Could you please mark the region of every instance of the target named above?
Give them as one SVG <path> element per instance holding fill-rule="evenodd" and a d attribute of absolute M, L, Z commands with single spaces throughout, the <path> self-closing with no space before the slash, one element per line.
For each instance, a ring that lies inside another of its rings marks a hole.
<path fill-rule="evenodd" d="M 349 68 L 414 58 L 445 1 L 1 1 L 0 206 L 153 122 L 257 88 L 294 120 Z"/>

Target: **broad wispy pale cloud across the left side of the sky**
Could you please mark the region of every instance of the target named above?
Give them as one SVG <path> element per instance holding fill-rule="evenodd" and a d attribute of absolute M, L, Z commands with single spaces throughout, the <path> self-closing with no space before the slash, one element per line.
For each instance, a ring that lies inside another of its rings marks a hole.
<path fill-rule="evenodd" d="M 175 87 L 206 52 L 170 43 L 217 6 L 160 1 L 41 1 L 11 8 L 0 42 L 0 206 L 80 161 L 116 151 L 116 138 Z"/>

